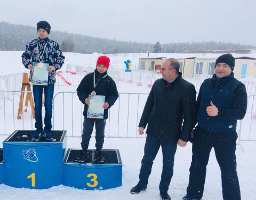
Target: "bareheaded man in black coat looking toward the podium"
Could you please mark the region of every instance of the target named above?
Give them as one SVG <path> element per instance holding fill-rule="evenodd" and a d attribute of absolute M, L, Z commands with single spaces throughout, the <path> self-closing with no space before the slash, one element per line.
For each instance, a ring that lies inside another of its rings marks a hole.
<path fill-rule="evenodd" d="M 162 78 L 155 81 L 140 123 L 139 134 L 147 127 L 147 139 L 139 175 L 139 183 L 131 189 L 138 194 L 147 189 L 148 178 L 159 147 L 163 151 L 163 171 L 159 185 L 162 199 L 171 199 L 167 190 L 173 175 L 177 145 L 185 147 L 196 118 L 196 90 L 179 73 L 179 61 L 166 60 L 161 68 Z M 183 124 L 182 124 L 183 121 Z"/>

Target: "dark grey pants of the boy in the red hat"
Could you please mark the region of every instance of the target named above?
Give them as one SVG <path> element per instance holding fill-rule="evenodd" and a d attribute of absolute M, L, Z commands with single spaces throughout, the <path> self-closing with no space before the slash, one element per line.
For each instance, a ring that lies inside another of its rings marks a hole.
<path fill-rule="evenodd" d="M 83 127 L 83 134 L 82 134 L 82 142 L 81 146 L 83 150 L 87 150 L 89 146 L 89 141 L 91 139 L 93 126 L 95 122 L 95 147 L 97 150 L 102 149 L 104 143 L 104 131 L 106 125 L 106 119 L 93 119 L 84 117 L 84 127 Z"/>

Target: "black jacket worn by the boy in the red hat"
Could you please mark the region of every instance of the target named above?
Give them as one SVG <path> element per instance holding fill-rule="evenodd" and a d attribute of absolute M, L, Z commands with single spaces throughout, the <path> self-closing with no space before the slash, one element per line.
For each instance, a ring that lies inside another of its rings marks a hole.
<path fill-rule="evenodd" d="M 105 73 L 100 74 L 97 69 L 94 70 L 95 73 L 95 83 L 98 82 L 97 86 L 95 87 L 96 95 L 104 95 L 105 102 L 108 102 L 109 107 L 108 109 L 114 105 L 115 101 L 118 98 L 118 92 L 116 89 L 116 83 L 114 80 L 107 75 L 107 71 Z M 107 75 L 105 78 L 103 76 Z M 88 106 L 85 104 L 85 99 L 89 97 L 89 94 L 93 91 L 93 73 L 87 74 L 77 87 L 77 95 L 79 100 L 84 103 L 84 116 L 87 116 L 87 108 Z M 104 110 L 104 119 L 108 118 L 108 109 Z"/>

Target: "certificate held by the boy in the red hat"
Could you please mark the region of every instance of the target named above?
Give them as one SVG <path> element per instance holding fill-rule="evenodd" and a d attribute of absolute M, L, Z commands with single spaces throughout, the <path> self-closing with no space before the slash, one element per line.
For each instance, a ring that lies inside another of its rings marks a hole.
<path fill-rule="evenodd" d="M 105 96 L 102 95 L 89 95 L 89 107 L 87 109 L 87 118 L 103 119 L 105 103 Z"/>

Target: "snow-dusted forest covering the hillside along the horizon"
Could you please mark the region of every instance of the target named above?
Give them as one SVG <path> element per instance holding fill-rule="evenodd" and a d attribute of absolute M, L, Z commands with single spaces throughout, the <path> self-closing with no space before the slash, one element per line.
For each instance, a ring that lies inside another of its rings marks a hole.
<path fill-rule="evenodd" d="M 11 25 L 10 23 L 0 22 L 0 51 L 24 51 L 26 44 L 32 39 L 37 38 L 36 27 L 24 25 Z M 85 36 L 81 34 L 70 34 L 62 31 L 51 31 L 50 39 L 58 42 L 61 46 L 67 43 L 70 38 L 68 50 L 78 53 L 138 53 L 138 52 L 166 52 L 184 53 L 187 51 L 210 51 L 210 50 L 230 50 L 230 49 L 256 49 L 252 45 L 234 44 L 226 42 L 182 42 L 156 44 L 118 41 L 116 39 L 106 39 Z M 65 42 L 66 41 L 66 42 Z M 72 44 L 71 44 L 72 43 Z M 67 44 L 65 44 L 67 45 Z M 70 46 L 71 45 L 71 46 Z"/>

